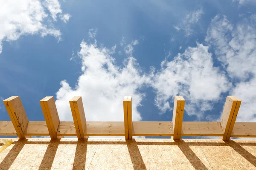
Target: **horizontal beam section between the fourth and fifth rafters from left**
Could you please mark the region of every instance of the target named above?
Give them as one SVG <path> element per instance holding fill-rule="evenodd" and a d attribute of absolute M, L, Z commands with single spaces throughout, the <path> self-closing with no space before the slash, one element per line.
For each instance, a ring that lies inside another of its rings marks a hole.
<path fill-rule="evenodd" d="M 132 122 L 133 136 L 173 136 L 172 122 Z"/>

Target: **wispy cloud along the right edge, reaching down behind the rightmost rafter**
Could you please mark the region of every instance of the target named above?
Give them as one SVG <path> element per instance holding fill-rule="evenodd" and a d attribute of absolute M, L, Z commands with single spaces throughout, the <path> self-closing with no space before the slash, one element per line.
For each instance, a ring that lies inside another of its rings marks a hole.
<path fill-rule="evenodd" d="M 256 122 L 256 24 L 250 19 L 233 26 L 227 17 L 217 15 L 206 40 L 236 82 L 230 95 L 242 100 L 237 121 Z"/>

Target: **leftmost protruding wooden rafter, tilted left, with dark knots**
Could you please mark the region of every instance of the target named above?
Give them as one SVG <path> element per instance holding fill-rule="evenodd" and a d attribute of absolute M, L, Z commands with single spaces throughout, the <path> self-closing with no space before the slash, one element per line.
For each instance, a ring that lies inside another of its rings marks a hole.
<path fill-rule="evenodd" d="M 12 96 L 3 100 L 6 110 L 11 118 L 12 124 L 16 130 L 17 136 L 20 139 L 26 139 L 24 130 L 28 125 L 28 118 L 23 108 L 22 102 L 19 96 Z"/>

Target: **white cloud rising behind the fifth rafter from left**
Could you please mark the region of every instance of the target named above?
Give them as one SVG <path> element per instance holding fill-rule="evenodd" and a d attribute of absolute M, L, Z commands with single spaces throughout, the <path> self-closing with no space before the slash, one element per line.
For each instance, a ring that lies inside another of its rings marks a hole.
<path fill-rule="evenodd" d="M 170 62 L 164 60 L 160 71 L 152 73 L 151 77 L 156 90 L 155 103 L 163 113 L 172 109 L 169 99 L 173 101 L 174 96 L 180 94 L 191 102 L 186 104 L 187 113 L 199 118 L 204 111 L 211 110 L 211 102 L 230 87 L 225 75 L 213 67 L 208 47 L 199 43 Z"/>

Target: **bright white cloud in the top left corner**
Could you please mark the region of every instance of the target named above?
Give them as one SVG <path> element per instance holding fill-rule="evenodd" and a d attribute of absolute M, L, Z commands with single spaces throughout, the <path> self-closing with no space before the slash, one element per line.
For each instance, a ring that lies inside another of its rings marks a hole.
<path fill-rule="evenodd" d="M 48 17 L 47 7 L 56 20 L 56 14 L 61 13 L 58 0 L 8 0 L 0 5 L 0 53 L 3 41 L 14 41 L 22 35 L 40 34 L 42 37 L 52 35 L 61 40 L 61 32 L 52 26 Z M 48 22 L 45 22 L 45 21 Z"/>

